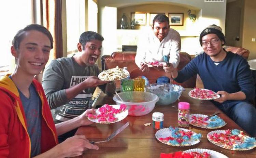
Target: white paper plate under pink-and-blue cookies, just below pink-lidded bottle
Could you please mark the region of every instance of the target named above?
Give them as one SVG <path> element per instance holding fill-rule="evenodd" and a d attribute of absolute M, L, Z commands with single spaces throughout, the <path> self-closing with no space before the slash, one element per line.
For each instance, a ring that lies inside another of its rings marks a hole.
<path fill-rule="evenodd" d="M 177 127 L 176 127 L 176 128 L 177 128 Z M 179 128 L 179 129 L 184 130 L 185 132 L 186 132 L 186 131 L 190 131 L 190 130 L 185 129 L 185 128 Z M 193 131 L 192 131 L 192 132 L 193 132 Z M 160 141 L 159 138 L 170 137 L 171 134 L 172 134 L 172 131 L 169 130 L 169 128 L 163 128 L 163 129 L 160 129 L 160 130 L 158 130 L 158 131 L 156 132 L 156 138 L 157 138 L 158 141 Z M 193 135 L 196 135 L 196 134 L 197 134 L 197 133 L 193 132 Z M 193 136 L 193 135 L 192 135 L 192 136 Z M 195 145 L 195 144 L 199 143 L 200 140 L 201 140 L 201 139 L 199 139 L 199 140 L 188 140 L 188 141 L 187 141 L 188 144 L 185 144 L 185 145 L 180 145 L 180 144 L 179 144 L 179 145 L 174 145 L 174 144 L 171 144 L 171 143 L 169 143 L 169 142 L 162 142 L 162 141 L 160 141 L 160 142 L 163 143 L 163 144 L 171 145 L 171 146 L 190 146 L 190 145 Z"/>

